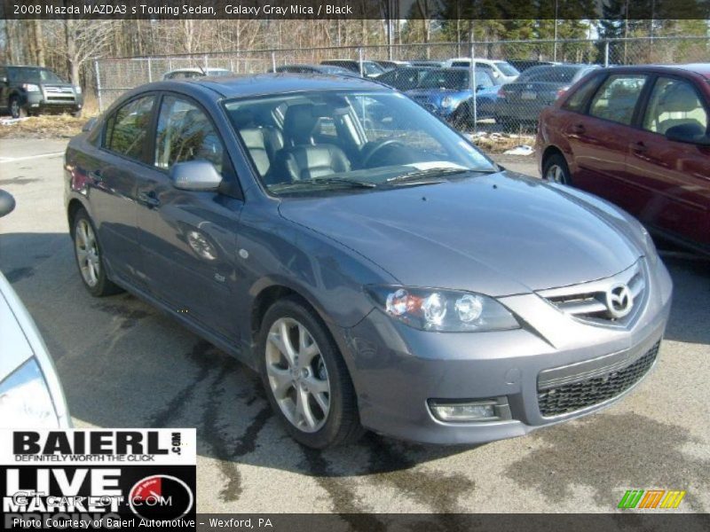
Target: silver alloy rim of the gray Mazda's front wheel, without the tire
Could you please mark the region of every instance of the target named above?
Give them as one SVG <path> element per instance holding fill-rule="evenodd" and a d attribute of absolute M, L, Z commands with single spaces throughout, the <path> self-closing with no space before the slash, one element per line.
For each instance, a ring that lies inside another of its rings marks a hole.
<path fill-rule="evenodd" d="M 317 432 L 330 411 L 330 381 L 311 332 L 281 317 L 269 329 L 265 350 L 266 375 L 281 412 L 297 429 Z"/>

